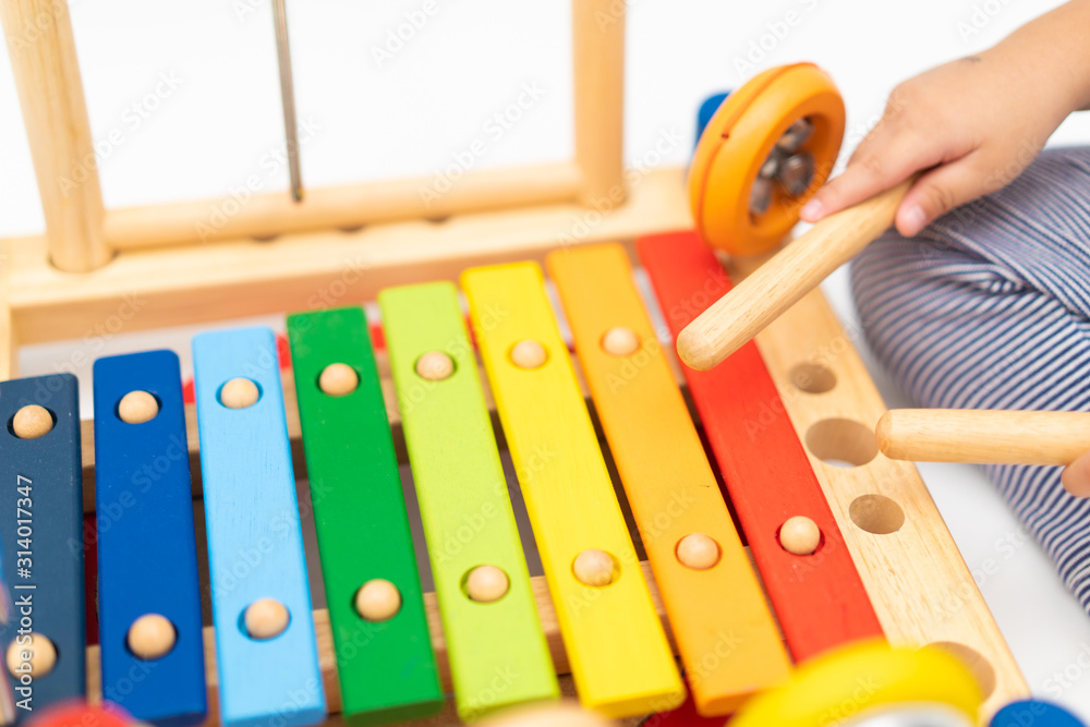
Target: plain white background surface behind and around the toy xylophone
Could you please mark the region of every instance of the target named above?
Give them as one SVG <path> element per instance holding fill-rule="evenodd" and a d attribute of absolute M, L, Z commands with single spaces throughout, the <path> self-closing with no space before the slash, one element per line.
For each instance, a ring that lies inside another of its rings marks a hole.
<path fill-rule="evenodd" d="M 474 168 L 570 155 L 566 2 L 377 4 L 289 3 L 299 117 L 310 130 L 301 132 L 304 184 L 439 174 L 476 138 L 486 144 Z M 704 96 L 798 60 L 818 62 L 840 86 L 850 150 L 897 81 L 991 45 L 1056 4 L 631 0 L 626 156 L 631 165 L 683 163 Z M 72 8 L 109 206 L 218 196 L 253 173 L 265 190 L 287 186 L 265 0 L 73 0 Z M 416 28 L 404 25 L 412 16 Z M 402 46 L 384 48 L 399 27 Z M 494 114 L 518 104 L 526 84 L 540 98 L 497 126 Z M 0 237 L 35 233 L 41 213 L 5 54 L 0 140 Z M 1073 118 L 1053 143 L 1088 140 L 1090 119 Z M 853 315 L 843 275 L 826 291 L 841 316 Z M 96 354 L 124 348 L 123 339 L 85 346 Z M 63 364 L 58 350 L 41 354 L 46 369 Z M 891 405 L 905 403 L 872 372 Z M 921 471 L 1034 692 L 1090 719 L 1090 618 L 979 470 Z"/>

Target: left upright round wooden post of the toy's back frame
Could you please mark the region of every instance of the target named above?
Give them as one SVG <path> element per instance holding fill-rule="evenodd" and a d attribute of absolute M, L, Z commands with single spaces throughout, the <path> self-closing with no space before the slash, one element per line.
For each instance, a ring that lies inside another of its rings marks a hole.
<path fill-rule="evenodd" d="M 100 267 L 102 193 L 65 0 L 0 0 L 15 86 L 46 217 L 49 258 L 69 272 Z"/>

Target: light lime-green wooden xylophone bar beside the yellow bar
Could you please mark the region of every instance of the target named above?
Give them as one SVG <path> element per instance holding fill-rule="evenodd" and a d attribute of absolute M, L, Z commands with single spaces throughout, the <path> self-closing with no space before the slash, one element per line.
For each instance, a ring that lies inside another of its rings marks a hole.
<path fill-rule="evenodd" d="M 470 720 L 520 702 L 559 694 L 530 589 L 476 360 L 447 282 L 383 291 L 390 367 L 439 598 L 458 715 Z M 455 373 L 416 375 L 416 360 L 443 351 Z M 463 591 L 481 565 L 504 570 L 510 590 L 491 604 Z"/>

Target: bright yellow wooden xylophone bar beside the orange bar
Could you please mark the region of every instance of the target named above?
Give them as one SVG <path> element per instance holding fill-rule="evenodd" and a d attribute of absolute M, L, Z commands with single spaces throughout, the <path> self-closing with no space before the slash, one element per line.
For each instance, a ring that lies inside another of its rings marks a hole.
<path fill-rule="evenodd" d="M 462 275 L 580 700 L 607 716 L 677 706 L 677 666 L 533 263 Z"/>

